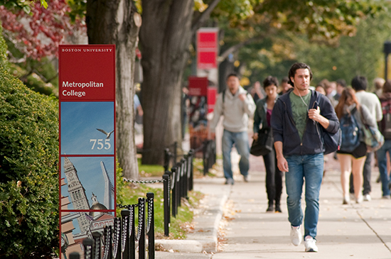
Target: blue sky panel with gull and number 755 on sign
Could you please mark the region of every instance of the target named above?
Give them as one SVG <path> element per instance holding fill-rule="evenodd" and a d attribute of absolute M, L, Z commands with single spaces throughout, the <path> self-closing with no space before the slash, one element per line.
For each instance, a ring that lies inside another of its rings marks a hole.
<path fill-rule="evenodd" d="M 114 155 L 114 102 L 61 102 L 61 155 Z"/>

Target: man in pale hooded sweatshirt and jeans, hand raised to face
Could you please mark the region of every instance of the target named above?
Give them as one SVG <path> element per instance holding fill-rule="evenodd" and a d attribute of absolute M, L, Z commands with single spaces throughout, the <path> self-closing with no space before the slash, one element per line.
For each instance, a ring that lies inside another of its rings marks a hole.
<path fill-rule="evenodd" d="M 239 77 L 231 73 L 227 77 L 227 89 L 218 96 L 213 111 L 210 130 L 215 132 L 220 116 L 224 116 L 223 127 L 223 170 L 225 184 L 234 184 L 231 167 L 231 150 L 233 144 L 241 156 L 239 161 L 240 173 L 245 182 L 248 182 L 250 168 L 250 146 L 248 142 L 248 118 L 253 116 L 255 103 L 250 94 L 240 86 Z"/>

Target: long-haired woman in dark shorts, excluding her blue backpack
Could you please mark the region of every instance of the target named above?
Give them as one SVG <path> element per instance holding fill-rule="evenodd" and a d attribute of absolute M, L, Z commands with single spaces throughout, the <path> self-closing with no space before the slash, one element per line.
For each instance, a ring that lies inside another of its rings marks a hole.
<path fill-rule="evenodd" d="M 360 127 L 359 132 L 362 132 L 361 128 L 364 127 L 364 123 L 369 126 L 376 127 L 377 123 L 375 117 L 370 114 L 367 106 L 360 104 L 355 92 L 352 88 L 348 87 L 343 90 L 341 97 L 339 98 L 338 105 L 336 106 L 336 114 L 338 119 L 341 120 L 343 115 L 353 112 L 355 121 L 357 121 Z M 341 185 L 343 192 L 343 204 L 348 204 L 349 197 L 349 175 L 352 172 L 353 186 L 355 202 L 360 203 L 363 201 L 360 189 L 363 184 L 363 167 L 365 159 L 367 158 L 367 145 L 364 143 L 364 134 L 359 135 L 360 145 L 358 145 L 352 152 L 337 151 L 338 160 L 341 164 Z"/>

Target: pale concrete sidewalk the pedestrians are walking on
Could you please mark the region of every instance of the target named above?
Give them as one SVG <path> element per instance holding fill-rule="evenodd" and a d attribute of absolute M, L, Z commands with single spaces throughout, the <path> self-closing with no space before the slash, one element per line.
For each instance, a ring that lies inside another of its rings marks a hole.
<path fill-rule="evenodd" d="M 375 182 L 377 168 L 372 173 L 373 200 L 342 205 L 339 163 L 331 155 L 327 158 L 320 197 L 318 253 L 305 253 L 304 243 L 291 244 L 285 187 L 282 213 L 265 212 L 263 160 L 252 156 L 248 183 L 238 172 L 232 186 L 224 185 L 223 177 L 195 180 L 195 190 L 206 194 L 208 209 L 195 218 L 195 233 L 188 235 L 187 241 L 176 241 L 173 253 L 156 251 L 156 258 L 391 258 L 391 200 L 380 199 L 380 183 Z M 224 207 L 224 203 L 229 206 Z M 304 199 L 302 204 L 304 208 Z M 220 221 L 223 213 L 226 216 Z M 225 240 L 213 250 L 219 223 L 225 223 L 220 230 Z"/>

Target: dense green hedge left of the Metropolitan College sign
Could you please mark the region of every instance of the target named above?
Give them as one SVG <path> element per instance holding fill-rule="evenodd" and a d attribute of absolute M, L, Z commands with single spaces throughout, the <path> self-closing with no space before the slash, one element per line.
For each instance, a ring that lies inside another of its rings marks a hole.
<path fill-rule="evenodd" d="M 59 246 L 57 107 L 0 63 L 0 258 L 50 258 Z"/>

